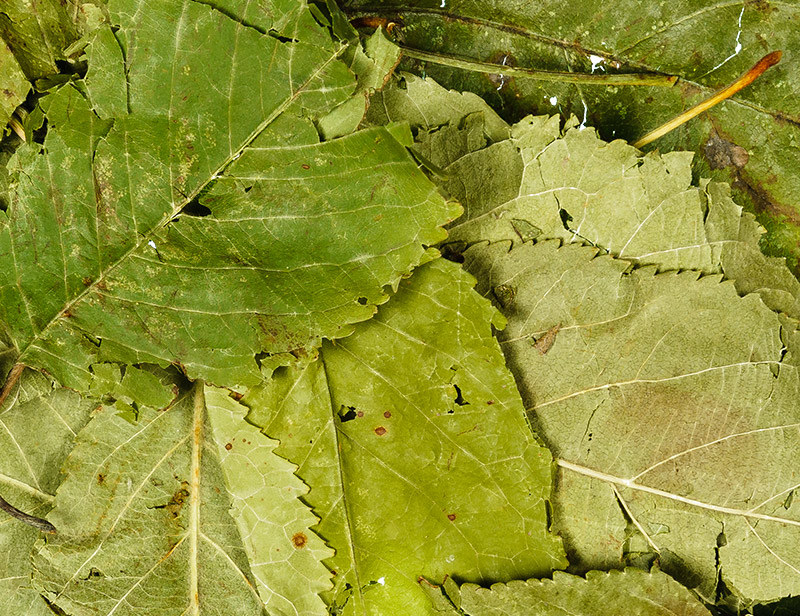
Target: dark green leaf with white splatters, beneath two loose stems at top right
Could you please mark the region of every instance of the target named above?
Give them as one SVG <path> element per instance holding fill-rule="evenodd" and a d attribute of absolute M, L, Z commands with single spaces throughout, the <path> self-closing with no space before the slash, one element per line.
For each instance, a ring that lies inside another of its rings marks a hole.
<path fill-rule="evenodd" d="M 528 114 L 574 115 L 611 141 L 633 141 L 730 83 L 768 51 L 784 60 L 731 100 L 648 149 L 695 152 L 695 177 L 733 186 L 734 199 L 769 230 L 764 246 L 797 271 L 798 73 L 800 8 L 794 3 L 696 3 L 625 0 L 582 3 L 522 0 L 381 2 L 347 0 L 348 14 L 404 24 L 404 44 L 497 65 L 493 74 L 408 62 L 447 88 L 482 96 L 508 121 Z M 367 8 L 368 7 L 368 8 Z M 512 65 L 591 75 L 676 75 L 671 88 L 567 84 L 503 75 Z"/>

